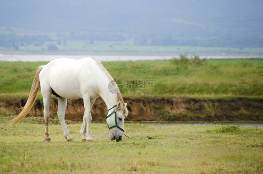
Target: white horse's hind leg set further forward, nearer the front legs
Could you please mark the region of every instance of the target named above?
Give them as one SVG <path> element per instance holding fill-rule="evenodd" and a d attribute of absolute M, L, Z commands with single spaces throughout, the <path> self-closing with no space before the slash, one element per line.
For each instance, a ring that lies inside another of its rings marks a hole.
<path fill-rule="evenodd" d="M 58 110 L 57 116 L 60 121 L 62 131 L 67 141 L 74 141 L 73 137 L 69 133 L 69 129 L 65 123 L 65 110 L 67 107 L 67 99 L 63 97 L 57 97 L 58 100 Z"/>

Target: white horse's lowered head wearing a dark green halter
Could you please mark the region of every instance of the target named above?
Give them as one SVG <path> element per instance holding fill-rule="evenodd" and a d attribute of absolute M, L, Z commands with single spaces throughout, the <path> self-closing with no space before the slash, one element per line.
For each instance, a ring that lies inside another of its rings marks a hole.
<path fill-rule="evenodd" d="M 111 113 L 106 117 L 106 123 L 109 127 L 109 138 L 113 141 L 116 139 L 117 142 L 122 140 L 124 132 L 124 118 L 128 115 L 128 109 L 126 108 L 121 101 L 118 102 Z M 110 109 L 110 110 L 111 110 Z"/>

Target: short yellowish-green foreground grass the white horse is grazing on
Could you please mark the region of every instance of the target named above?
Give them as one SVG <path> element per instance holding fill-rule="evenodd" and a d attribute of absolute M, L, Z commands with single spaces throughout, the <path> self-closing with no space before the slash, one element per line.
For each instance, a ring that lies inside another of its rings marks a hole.
<path fill-rule="evenodd" d="M 221 126 L 159 127 L 134 123 L 124 125 L 124 133 L 131 138 L 181 140 L 124 137 L 117 143 L 110 141 L 106 123 L 93 123 L 94 142 L 81 143 L 81 123 L 68 123 L 75 139 L 69 143 L 61 126 L 52 122 L 51 142 L 44 143 L 45 128 L 39 119 L 25 118 L 12 128 L 7 123 L 10 119 L 0 116 L 2 173 L 263 172 L 262 128 L 239 127 L 234 132 L 220 132 L 217 130 Z"/>

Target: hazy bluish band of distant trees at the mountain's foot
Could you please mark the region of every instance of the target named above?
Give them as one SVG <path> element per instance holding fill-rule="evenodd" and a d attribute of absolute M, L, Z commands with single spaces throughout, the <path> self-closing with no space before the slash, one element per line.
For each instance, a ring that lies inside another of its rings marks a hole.
<path fill-rule="evenodd" d="M 80 37 L 81 36 L 81 37 Z M 58 38 L 64 40 L 80 40 L 85 39 L 89 43 L 94 41 L 125 41 L 131 39 L 131 35 L 125 35 L 121 33 L 96 33 L 90 34 L 75 34 L 71 31 L 69 35 L 57 35 Z M 15 32 L 9 34 L 0 34 L 0 46 L 2 47 L 14 47 L 15 50 L 19 49 L 19 46 L 25 44 L 33 44 L 35 46 L 42 46 L 46 41 L 53 41 L 47 35 L 17 35 Z M 66 45 L 66 41 L 63 41 Z M 61 45 L 61 41 L 57 40 L 57 45 Z M 151 46 L 201 46 L 201 47 L 238 47 L 243 49 L 245 47 L 263 47 L 263 38 L 256 35 L 248 35 L 244 37 L 210 37 L 210 38 L 172 38 L 171 36 L 164 38 L 135 38 L 134 45 L 151 45 Z M 49 50 L 57 50 L 56 45 L 48 47 Z"/>

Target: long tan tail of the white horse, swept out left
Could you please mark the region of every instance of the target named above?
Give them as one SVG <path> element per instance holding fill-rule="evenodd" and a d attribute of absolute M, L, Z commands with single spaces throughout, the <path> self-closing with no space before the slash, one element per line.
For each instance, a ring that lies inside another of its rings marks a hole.
<path fill-rule="evenodd" d="M 9 121 L 11 126 L 14 126 L 19 121 L 21 121 L 28 114 L 28 112 L 30 111 L 30 109 L 34 105 L 35 100 L 36 100 L 37 95 L 38 95 L 39 88 L 40 88 L 39 73 L 43 68 L 44 68 L 44 66 L 39 66 L 39 68 L 35 74 L 35 78 L 33 80 L 31 91 L 30 91 L 30 94 L 28 96 L 28 101 L 26 102 L 26 105 L 24 106 L 23 110 L 17 115 L 17 117 L 15 117 L 14 119 Z"/>

